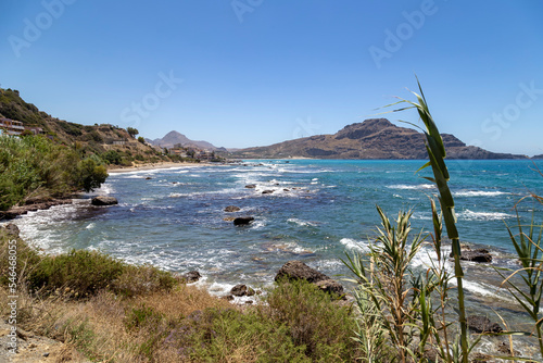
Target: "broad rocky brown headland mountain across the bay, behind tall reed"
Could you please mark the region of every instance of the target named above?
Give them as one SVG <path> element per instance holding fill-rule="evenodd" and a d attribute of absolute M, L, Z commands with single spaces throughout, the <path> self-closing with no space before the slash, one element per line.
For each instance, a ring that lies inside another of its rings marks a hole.
<path fill-rule="evenodd" d="M 450 134 L 442 134 L 449 159 L 526 159 L 526 155 L 494 153 L 466 146 Z M 370 118 L 345 126 L 334 135 L 316 135 L 268 147 L 232 152 L 243 159 L 427 159 L 425 136 L 399 127 L 387 118 Z"/>

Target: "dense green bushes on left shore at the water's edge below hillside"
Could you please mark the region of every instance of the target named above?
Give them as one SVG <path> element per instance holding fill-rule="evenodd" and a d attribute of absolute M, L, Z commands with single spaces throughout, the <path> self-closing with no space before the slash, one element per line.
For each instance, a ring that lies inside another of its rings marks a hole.
<path fill-rule="evenodd" d="M 0 210 L 27 197 L 90 191 L 106 177 L 98 157 L 81 159 L 75 150 L 42 136 L 0 137 Z"/>

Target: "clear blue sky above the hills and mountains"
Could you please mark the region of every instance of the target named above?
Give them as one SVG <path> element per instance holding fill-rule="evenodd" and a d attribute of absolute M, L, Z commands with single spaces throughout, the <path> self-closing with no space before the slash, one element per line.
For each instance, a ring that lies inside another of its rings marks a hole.
<path fill-rule="evenodd" d="M 0 85 L 66 121 L 239 148 L 362 122 L 416 73 L 443 133 L 533 155 L 542 18 L 540 0 L 2 0 Z"/>

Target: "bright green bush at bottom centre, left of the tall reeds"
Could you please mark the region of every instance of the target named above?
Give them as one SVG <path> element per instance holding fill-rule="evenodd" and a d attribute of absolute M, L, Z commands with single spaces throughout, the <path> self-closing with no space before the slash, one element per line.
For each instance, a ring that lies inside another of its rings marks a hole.
<path fill-rule="evenodd" d="M 306 281 L 279 284 L 269 291 L 268 305 L 244 312 L 205 309 L 179 322 L 166 322 L 148 306 L 131 309 L 127 329 L 144 331 L 140 353 L 166 348 L 179 361 L 195 362 L 354 362 L 356 342 L 351 309 Z M 174 324 L 174 326 L 172 326 Z"/>

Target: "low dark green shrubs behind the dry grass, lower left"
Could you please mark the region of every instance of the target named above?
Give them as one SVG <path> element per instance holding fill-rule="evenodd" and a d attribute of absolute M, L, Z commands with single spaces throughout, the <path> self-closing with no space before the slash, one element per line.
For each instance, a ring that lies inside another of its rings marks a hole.
<path fill-rule="evenodd" d="M 0 230 L 0 284 L 9 284 L 8 241 Z M 122 296 L 137 296 L 169 290 L 178 280 L 167 272 L 151 266 L 134 266 L 97 251 L 72 250 L 59 255 L 40 255 L 16 238 L 17 276 L 30 291 L 41 296 L 64 293 L 85 298 L 102 289 Z M 23 268 L 24 266 L 24 268 Z"/>

